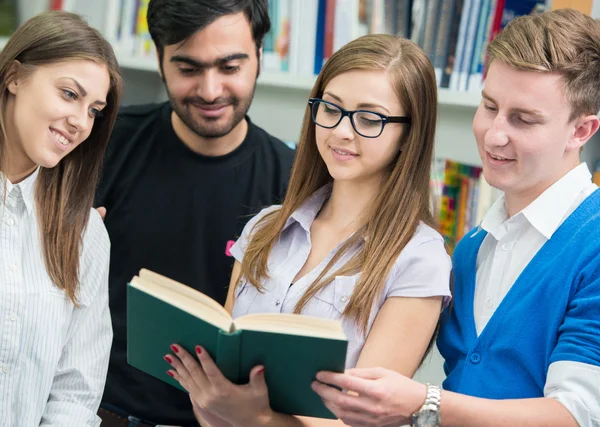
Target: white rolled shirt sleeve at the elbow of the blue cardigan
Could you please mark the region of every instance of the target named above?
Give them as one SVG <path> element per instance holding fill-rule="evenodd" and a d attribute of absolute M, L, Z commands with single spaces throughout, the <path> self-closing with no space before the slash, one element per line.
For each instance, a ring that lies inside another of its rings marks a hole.
<path fill-rule="evenodd" d="M 544 396 L 558 400 L 580 427 L 600 427 L 600 367 L 554 362 L 548 369 Z"/>

